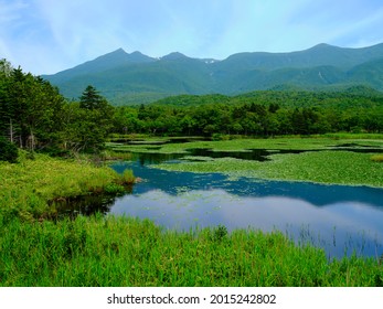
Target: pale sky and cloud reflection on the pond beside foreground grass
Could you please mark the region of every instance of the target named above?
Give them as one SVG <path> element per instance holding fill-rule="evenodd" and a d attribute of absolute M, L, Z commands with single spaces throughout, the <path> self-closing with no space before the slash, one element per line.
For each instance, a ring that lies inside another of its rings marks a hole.
<path fill-rule="evenodd" d="M 223 224 L 227 230 L 279 230 L 296 241 L 326 248 L 330 256 L 355 251 L 383 253 L 383 212 L 365 204 L 340 203 L 318 209 L 297 199 L 238 198 L 224 190 L 187 191 L 179 195 L 152 190 L 117 199 L 113 214 L 148 217 L 166 228 L 189 231 Z M 373 219 L 373 221 L 372 221 Z"/>

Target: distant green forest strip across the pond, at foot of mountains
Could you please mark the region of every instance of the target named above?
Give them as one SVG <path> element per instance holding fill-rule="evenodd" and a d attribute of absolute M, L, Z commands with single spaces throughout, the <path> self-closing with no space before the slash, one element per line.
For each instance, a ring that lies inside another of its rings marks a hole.
<path fill-rule="evenodd" d="M 155 135 L 382 132 L 383 99 L 351 92 L 177 96 L 117 108 L 114 129 Z"/>

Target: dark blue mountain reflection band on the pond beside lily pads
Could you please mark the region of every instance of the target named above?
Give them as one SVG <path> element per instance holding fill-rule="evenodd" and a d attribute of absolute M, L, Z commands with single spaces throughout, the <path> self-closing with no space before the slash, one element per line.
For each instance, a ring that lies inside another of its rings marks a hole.
<path fill-rule="evenodd" d="M 325 185 L 309 182 L 287 181 L 254 181 L 241 178 L 228 180 L 220 173 L 170 172 L 138 162 L 115 163 L 117 172 L 131 169 L 136 175 L 143 179 L 134 187 L 132 192 L 141 194 L 151 190 L 162 190 L 177 195 L 180 191 L 224 189 L 240 196 L 286 196 L 305 200 L 312 205 L 323 206 L 340 202 L 359 202 L 376 207 L 383 206 L 383 190 L 369 187 Z"/>

